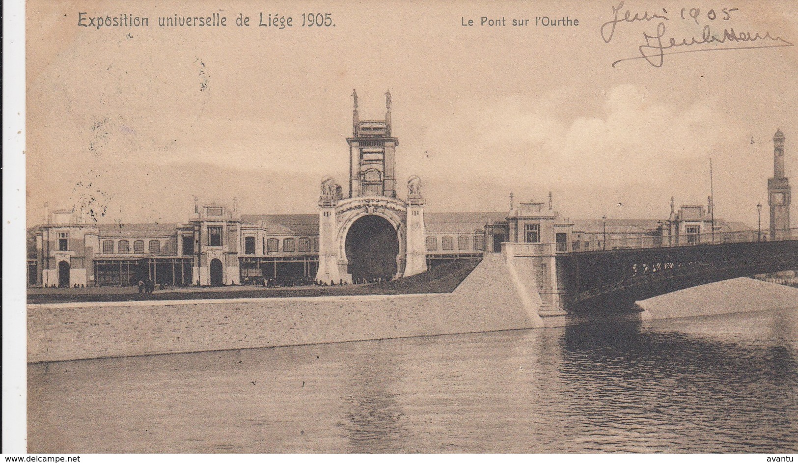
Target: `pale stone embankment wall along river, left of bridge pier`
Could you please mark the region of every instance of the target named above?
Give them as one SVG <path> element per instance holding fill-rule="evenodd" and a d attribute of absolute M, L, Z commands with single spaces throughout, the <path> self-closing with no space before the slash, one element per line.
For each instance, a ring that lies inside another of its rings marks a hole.
<path fill-rule="evenodd" d="M 539 297 L 522 294 L 508 268 L 502 255 L 487 255 L 448 294 L 31 304 L 28 361 L 542 326 Z"/>

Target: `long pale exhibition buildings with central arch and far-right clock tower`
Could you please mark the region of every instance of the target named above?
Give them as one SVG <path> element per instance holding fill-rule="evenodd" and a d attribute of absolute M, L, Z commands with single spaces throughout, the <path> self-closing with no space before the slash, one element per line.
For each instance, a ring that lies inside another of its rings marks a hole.
<path fill-rule="evenodd" d="M 397 192 L 390 93 L 385 118 L 361 121 L 353 93 L 349 191 L 322 179 L 315 214 L 242 214 L 238 202 L 200 204 L 180 224 L 95 224 L 73 211 L 49 212 L 28 230 L 31 287 L 357 283 L 417 275 L 456 259 L 501 252 L 503 243 L 551 243 L 555 252 L 699 244 L 749 232 L 713 219 L 712 201 L 681 206 L 666 220 L 567 220 L 548 201 L 506 212 L 425 212 L 421 178 Z M 776 133 L 776 171 L 768 180 L 771 233 L 789 228 L 784 135 Z M 546 247 L 547 249 L 547 247 Z M 539 278 L 543 276 L 539 275 Z"/>

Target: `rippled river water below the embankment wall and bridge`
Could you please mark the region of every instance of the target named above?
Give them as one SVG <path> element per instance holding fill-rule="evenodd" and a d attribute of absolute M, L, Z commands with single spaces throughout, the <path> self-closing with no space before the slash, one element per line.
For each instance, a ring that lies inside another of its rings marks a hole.
<path fill-rule="evenodd" d="M 29 366 L 29 451 L 798 451 L 798 311 Z"/>

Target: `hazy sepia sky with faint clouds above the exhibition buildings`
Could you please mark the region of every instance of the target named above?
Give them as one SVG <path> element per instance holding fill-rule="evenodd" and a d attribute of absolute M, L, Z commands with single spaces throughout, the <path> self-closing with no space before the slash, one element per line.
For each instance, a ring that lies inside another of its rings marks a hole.
<path fill-rule="evenodd" d="M 552 192 L 572 219 L 665 219 L 671 196 L 706 204 L 711 158 L 716 217 L 756 227 L 761 202 L 767 224 L 777 128 L 798 182 L 796 47 L 612 63 L 639 56 L 659 22 L 680 41 L 709 26 L 798 43 L 798 4 L 626 2 L 621 18 L 669 19 L 619 23 L 606 42 L 618 3 L 29 1 L 28 224 L 45 202 L 90 204 L 107 223 L 188 220 L 193 196 L 235 197 L 243 213 L 316 212 L 323 176 L 348 184 L 353 89 L 361 119 L 384 117 L 390 89 L 397 190 L 421 176 L 429 212 L 505 211 L 510 192 Z M 335 26 L 298 26 L 305 11 Z M 80 12 L 150 26 L 80 27 Z M 228 26 L 157 26 L 212 13 Z M 235 26 L 239 13 L 251 26 Z M 294 27 L 259 27 L 260 13 Z M 508 26 L 480 26 L 482 16 Z M 579 26 L 510 25 L 543 16 Z M 469 18 L 476 26 L 462 25 Z"/>

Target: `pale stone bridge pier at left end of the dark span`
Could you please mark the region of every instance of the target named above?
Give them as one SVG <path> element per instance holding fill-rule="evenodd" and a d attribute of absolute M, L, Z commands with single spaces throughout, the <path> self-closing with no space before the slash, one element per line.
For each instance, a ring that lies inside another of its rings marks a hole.
<path fill-rule="evenodd" d="M 539 299 L 543 326 L 565 326 L 565 291 L 557 282 L 556 243 L 502 243 L 502 254 L 519 291 Z"/>

